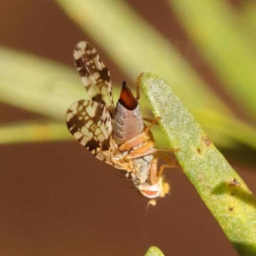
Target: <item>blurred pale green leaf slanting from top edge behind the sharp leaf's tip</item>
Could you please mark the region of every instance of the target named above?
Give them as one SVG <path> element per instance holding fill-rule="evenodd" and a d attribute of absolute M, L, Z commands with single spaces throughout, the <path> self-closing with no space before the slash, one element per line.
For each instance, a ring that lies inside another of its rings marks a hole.
<path fill-rule="evenodd" d="M 168 38 L 137 15 L 125 1 L 55 1 L 106 50 L 132 81 L 135 82 L 142 72 L 158 73 L 172 81 L 177 93 L 188 102 L 189 108 L 213 108 L 220 113 L 231 114 L 230 109 L 195 73 Z"/>

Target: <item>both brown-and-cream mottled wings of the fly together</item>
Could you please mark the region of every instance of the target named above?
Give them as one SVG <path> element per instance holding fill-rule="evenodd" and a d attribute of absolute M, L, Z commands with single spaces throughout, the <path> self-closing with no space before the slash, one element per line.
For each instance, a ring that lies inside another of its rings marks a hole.
<path fill-rule="evenodd" d="M 67 110 L 67 128 L 96 158 L 112 164 L 111 152 L 115 149 L 115 143 L 110 73 L 96 49 L 87 42 L 76 45 L 73 57 L 91 100 L 73 103 Z"/>

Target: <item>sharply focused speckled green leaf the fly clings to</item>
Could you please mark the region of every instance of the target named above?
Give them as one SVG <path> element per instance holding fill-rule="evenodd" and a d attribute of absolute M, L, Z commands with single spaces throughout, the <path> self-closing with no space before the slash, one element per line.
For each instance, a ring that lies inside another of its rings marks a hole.
<path fill-rule="evenodd" d="M 154 116 L 160 116 L 183 172 L 195 186 L 225 235 L 242 255 L 256 254 L 256 199 L 246 183 L 215 148 L 201 125 L 163 79 L 139 78 Z"/>

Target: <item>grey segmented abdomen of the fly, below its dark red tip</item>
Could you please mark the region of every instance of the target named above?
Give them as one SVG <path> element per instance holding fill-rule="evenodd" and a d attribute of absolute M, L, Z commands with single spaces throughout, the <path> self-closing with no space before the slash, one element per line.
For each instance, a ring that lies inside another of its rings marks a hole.
<path fill-rule="evenodd" d="M 143 131 L 143 117 L 137 104 L 135 109 L 129 110 L 117 102 L 115 117 L 113 120 L 113 131 L 116 142 L 120 145 Z"/>

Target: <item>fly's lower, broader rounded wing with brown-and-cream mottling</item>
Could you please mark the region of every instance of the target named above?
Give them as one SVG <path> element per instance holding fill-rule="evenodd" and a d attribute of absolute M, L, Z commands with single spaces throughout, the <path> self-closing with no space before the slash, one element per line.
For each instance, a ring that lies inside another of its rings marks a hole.
<path fill-rule="evenodd" d="M 74 102 L 67 110 L 66 122 L 79 143 L 98 159 L 110 163 L 108 150 L 113 137 L 113 119 L 104 104 L 90 100 Z"/>

